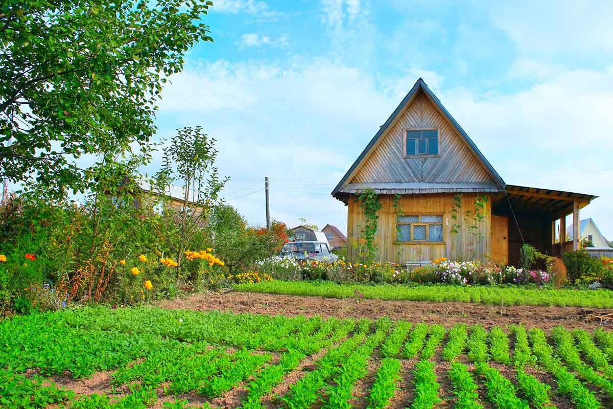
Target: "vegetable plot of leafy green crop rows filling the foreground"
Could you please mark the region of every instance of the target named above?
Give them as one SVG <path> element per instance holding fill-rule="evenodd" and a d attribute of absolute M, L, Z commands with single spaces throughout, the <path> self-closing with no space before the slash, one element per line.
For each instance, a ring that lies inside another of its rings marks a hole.
<path fill-rule="evenodd" d="M 608 408 L 613 334 L 86 307 L 0 322 L 6 408 Z M 96 375 L 99 391 L 72 388 Z"/>

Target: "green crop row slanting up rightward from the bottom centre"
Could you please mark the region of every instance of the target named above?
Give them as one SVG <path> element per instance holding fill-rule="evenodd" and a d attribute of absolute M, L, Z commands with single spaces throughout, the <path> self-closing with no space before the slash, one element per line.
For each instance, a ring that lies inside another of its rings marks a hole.
<path fill-rule="evenodd" d="M 357 325 L 356 334 L 348 338 L 336 348 L 329 350 L 326 355 L 315 362 L 317 369 L 313 370 L 296 383 L 289 387 L 286 396 L 281 397 L 289 409 L 308 408 L 317 400 L 317 392 L 327 380 L 334 374 L 340 362 L 349 356 L 352 351 L 364 342 L 368 326 L 364 324 L 366 320 L 360 320 Z"/>

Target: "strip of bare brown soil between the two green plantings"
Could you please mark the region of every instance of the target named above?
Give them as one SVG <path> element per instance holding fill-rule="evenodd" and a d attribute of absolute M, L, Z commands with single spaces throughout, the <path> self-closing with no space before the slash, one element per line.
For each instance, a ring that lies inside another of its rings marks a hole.
<path fill-rule="evenodd" d="M 189 310 L 222 310 L 261 313 L 269 315 L 335 316 L 337 318 L 406 319 L 411 322 L 439 323 L 451 327 L 455 323 L 493 325 L 525 324 L 529 327 L 549 329 L 558 325 L 571 328 L 613 326 L 613 321 L 588 319 L 590 313 L 605 315 L 611 308 L 534 307 L 468 304 L 463 302 L 384 301 L 370 299 L 336 299 L 310 296 L 280 296 L 230 291 L 208 292 L 166 300 L 164 308 Z"/>

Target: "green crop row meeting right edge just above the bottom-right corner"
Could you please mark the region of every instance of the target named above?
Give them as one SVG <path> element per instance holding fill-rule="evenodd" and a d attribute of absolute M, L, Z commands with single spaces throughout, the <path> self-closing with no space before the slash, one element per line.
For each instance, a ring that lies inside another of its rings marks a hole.
<path fill-rule="evenodd" d="M 579 377 L 584 378 L 584 380 L 613 397 L 613 383 L 599 375 L 590 365 L 581 361 L 581 356 L 579 356 L 573 343 L 573 335 L 560 326 L 555 327 L 551 331 L 551 335 L 557 346 L 557 354 L 568 364 L 568 367 L 577 372 Z"/>

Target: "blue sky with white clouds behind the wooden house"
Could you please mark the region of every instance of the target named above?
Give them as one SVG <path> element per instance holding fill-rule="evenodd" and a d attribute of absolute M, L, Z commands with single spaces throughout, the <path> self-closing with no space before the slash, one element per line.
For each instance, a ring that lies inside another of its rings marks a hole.
<path fill-rule="evenodd" d="M 250 223 L 265 224 L 268 176 L 273 218 L 344 231 L 330 191 L 422 77 L 505 182 L 600 196 L 581 216 L 613 239 L 613 3 L 213 3 L 215 42 L 171 78 L 158 137 L 216 137 L 224 196 Z"/>

